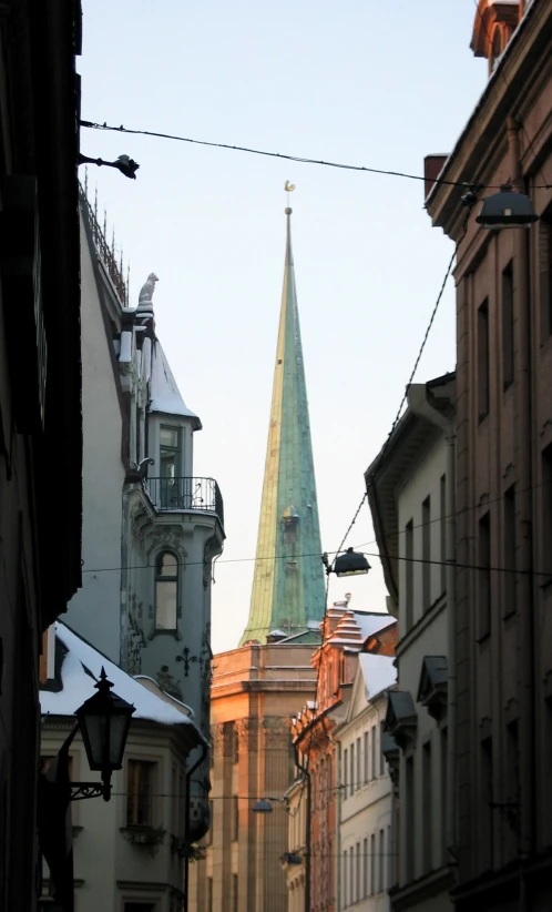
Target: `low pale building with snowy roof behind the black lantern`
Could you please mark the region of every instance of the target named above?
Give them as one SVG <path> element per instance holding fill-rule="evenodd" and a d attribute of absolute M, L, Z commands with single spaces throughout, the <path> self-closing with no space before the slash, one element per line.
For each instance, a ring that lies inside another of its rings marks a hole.
<path fill-rule="evenodd" d="M 102 668 L 113 691 L 135 707 L 123 769 L 112 798 L 72 803 L 78 912 L 182 912 L 190 756 L 203 743 L 191 711 L 151 678 L 132 678 L 63 624 L 52 628 L 51 661 L 41 686 L 43 769 L 75 726 L 74 711 L 94 692 Z M 93 781 L 80 732 L 70 746 L 73 782 Z M 75 792 L 76 787 L 73 787 Z M 43 868 L 43 894 L 50 874 Z"/>

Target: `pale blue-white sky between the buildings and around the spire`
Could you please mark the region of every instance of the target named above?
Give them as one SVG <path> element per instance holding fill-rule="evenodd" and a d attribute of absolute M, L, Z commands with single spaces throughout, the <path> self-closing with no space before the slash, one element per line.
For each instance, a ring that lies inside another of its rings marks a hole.
<path fill-rule="evenodd" d="M 487 81 L 469 49 L 472 0 L 83 0 L 82 118 L 313 159 L 423 174 L 449 152 Z M 226 543 L 213 648 L 249 610 L 280 304 L 286 196 L 310 407 L 323 548 L 335 550 L 391 427 L 451 242 L 423 184 L 147 136 L 83 130 L 84 154 L 126 153 L 136 181 L 89 170 L 131 303 L 160 276 L 157 334 L 203 422 L 194 474 L 218 480 Z M 83 178 L 81 169 L 81 178 Z M 473 174 L 473 180 L 478 175 Z M 454 367 L 449 283 L 419 382 Z M 369 543 L 369 544 L 368 544 Z M 376 553 L 367 506 L 347 541 Z M 377 557 L 330 601 L 385 610 Z"/>

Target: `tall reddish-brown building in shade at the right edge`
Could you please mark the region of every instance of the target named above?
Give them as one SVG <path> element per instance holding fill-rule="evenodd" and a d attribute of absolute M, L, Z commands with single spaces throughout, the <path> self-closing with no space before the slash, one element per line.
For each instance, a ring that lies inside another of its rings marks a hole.
<path fill-rule="evenodd" d="M 453 899 L 539 912 L 552 865 L 551 4 L 480 0 L 472 48 L 491 77 L 440 172 L 452 183 L 427 199 L 458 251 Z M 511 184 L 539 221 L 489 231 L 474 211 L 466 223 L 462 181 Z"/>

